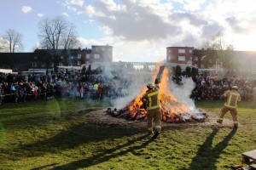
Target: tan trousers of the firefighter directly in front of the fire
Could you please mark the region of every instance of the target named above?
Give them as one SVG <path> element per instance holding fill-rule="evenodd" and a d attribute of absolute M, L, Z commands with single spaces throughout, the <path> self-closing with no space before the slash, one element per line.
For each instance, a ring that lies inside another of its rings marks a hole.
<path fill-rule="evenodd" d="M 161 131 L 162 114 L 161 114 L 160 108 L 157 108 L 154 110 L 148 110 L 147 119 L 148 119 L 148 133 L 153 133 L 153 122 L 155 123 L 155 130 L 158 132 Z"/>

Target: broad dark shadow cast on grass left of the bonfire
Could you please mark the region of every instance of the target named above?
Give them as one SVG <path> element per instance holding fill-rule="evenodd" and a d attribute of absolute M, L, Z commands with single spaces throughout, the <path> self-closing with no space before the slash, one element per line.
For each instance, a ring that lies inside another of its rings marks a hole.
<path fill-rule="evenodd" d="M 108 139 L 120 139 L 137 133 L 143 133 L 143 129 L 127 128 L 119 126 L 98 126 L 96 124 L 81 123 L 67 130 L 62 130 L 50 139 L 45 139 L 32 144 L 20 145 L 20 152 L 29 152 L 31 156 L 42 156 L 47 153 L 60 153 L 63 150 L 71 150 L 80 144 L 88 144 Z M 26 154 L 24 154 L 26 155 Z"/>

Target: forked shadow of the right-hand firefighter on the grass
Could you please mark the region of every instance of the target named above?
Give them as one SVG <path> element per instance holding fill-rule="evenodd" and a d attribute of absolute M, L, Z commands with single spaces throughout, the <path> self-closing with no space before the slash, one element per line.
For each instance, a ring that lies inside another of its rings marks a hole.
<path fill-rule="evenodd" d="M 232 129 L 230 133 L 223 139 L 222 142 L 218 143 L 214 148 L 212 148 L 212 140 L 215 135 L 218 133 L 218 129 L 213 129 L 212 133 L 207 137 L 204 144 L 201 145 L 199 150 L 196 153 L 196 156 L 193 158 L 189 170 L 198 170 L 198 169 L 217 169 L 216 161 L 218 160 L 220 154 L 227 147 L 230 142 L 230 139 L 236 133 L 236 128 Z"/>

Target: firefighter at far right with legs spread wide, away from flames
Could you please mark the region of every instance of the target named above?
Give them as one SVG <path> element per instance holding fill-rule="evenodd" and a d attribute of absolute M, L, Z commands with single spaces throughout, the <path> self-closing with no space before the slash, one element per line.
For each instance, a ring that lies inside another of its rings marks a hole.
<path fill-rule="evenodd" d="M 226 100 L 224 103 L 224 107 L 221 110 L 220 116 L 218 118 L 218 123 L 222 123 L 224 119 L 224 115 L 230 111 L 230 114 L 233 118 L 234 122 L 234 127 L 238 127 L 238 122 L 237 122 L 237 111 L 236 111 L 236 106 L 237 102 L 241 102 L 241 96 L 238 94 L 238 88 L 237 86 L 233 86 L 231 91 L 225 91 L 223 94 L 223 98 Z"/>

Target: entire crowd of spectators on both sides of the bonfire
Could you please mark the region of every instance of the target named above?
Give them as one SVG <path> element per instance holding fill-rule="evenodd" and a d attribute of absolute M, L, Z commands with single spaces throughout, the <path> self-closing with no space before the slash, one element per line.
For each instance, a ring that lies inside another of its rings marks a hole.
<path fill-rule="evenodd" d="M 253 99 L 256 80 L 248 77 L 197 76 L 191 98 L 195 100 L 220 100 L 224 91 L 236 85 L 242 100 Z M 28 100 L 117 99 L 125 96 L 131 78 L 124 74 L 107 77 L 102 73 L 79 72 L 45 75 L 12 75 L 0 73 L 0 105 Z"/>

